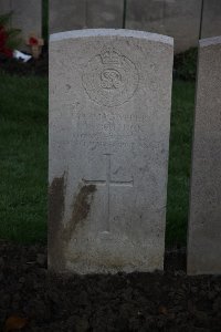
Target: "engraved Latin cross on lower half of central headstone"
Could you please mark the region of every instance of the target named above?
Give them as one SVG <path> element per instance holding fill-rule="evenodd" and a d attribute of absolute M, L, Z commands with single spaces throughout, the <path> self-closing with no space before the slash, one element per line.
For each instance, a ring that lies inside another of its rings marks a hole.
<path fill-rule="evenodd" d="M 106 195 L 105 195 L 105 229 L 103 230 L 104 232 L 109 232 L 110 230 L 110 225 L 109 225 L 109 206 L 110 206 L 110 187 L 113 186 L 123 186 L 123 187 L 133 187 L 134 186 L 134 178 L 131 177 L 130 180 L 128 181 L 114 181 L 112 180 L 112 160 L 110 160 L 110 154 L 104 154 L 106 157 L 106 179 L 85 179 L 83 178 L 82 180 L 86 185 L 96 185 L 96 186 L 105 186 L 106 187 Z"/>

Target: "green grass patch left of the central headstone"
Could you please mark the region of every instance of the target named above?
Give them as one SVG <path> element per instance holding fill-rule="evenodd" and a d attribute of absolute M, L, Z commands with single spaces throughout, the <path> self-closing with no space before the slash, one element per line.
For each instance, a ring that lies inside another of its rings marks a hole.
<path fill-rule="evenodd" d="M 48 80 L 0 72 L 0 238 L 46 239 Z"/>

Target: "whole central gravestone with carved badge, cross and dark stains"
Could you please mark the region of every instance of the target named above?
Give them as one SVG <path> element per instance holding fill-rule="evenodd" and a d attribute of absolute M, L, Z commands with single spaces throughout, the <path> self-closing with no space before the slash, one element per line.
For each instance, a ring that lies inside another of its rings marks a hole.
<path fill-rule="evenodd" d="M 146 32 L 51 35 L 51 270 L 162 269 L 172 54 Z"/>

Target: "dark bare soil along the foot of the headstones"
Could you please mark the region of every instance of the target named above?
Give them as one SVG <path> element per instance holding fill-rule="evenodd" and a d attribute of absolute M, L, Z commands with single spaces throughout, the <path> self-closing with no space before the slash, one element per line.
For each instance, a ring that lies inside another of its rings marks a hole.
<path fill-rule="evenodd" d="M 165 272 L 62 278 L 45 247 L 0 241 L 0 330 L 19 318 L 24 332 L 220 332 L 221 277 L 187 277 L 185 261 L 175 250 Z"/>

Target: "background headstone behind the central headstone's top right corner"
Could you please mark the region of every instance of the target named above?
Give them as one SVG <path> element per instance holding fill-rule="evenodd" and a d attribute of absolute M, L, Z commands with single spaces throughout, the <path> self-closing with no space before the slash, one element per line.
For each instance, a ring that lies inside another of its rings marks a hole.
<path fill-rule="evenodd" d="M 197 46 L 200 17 L 201 0 L 127 0 L 126 28 L 170 35 L 180 53 Z"/>

